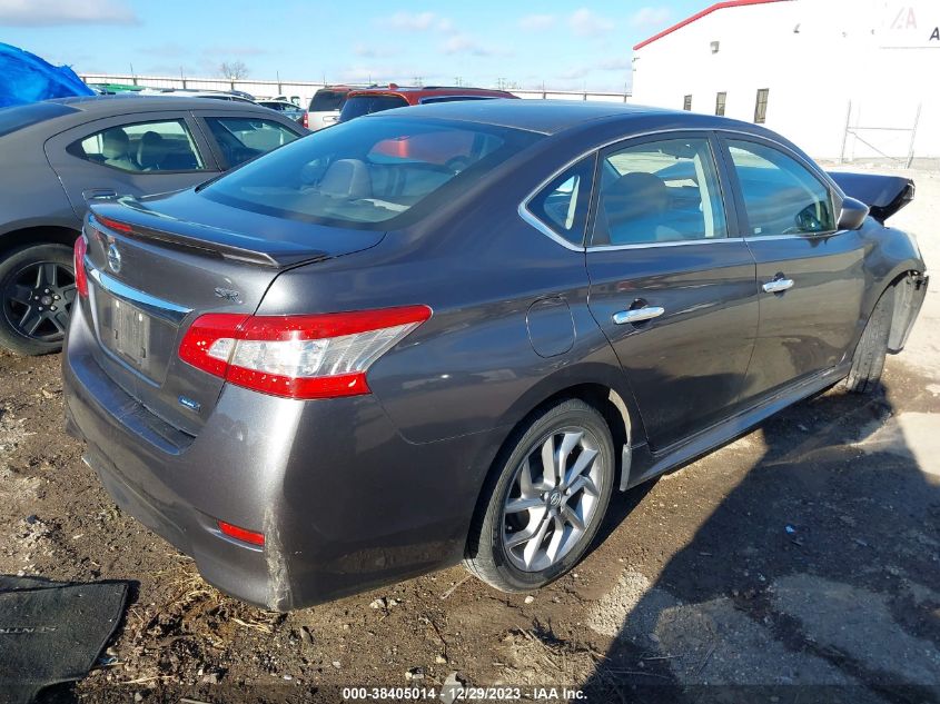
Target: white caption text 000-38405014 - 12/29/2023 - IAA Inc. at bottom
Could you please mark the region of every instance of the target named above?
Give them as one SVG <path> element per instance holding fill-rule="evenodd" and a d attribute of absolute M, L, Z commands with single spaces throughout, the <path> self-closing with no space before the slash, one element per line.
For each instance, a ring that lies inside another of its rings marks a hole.
<path fill-rule="evenodd" d="M 578 702 L 586 700 L 574 687 L 473 687 L 451 685 L 436 687 L 343 687 L 343 701 L 356 702 Z"/>

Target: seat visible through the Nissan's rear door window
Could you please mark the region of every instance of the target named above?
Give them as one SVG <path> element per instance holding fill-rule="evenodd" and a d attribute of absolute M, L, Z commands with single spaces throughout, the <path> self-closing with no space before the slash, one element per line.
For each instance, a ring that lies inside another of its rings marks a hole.
<path fill-rule="evenodd" d="M 669 188 L 657 176 L 633 171 L 621 176 L 602 194 L 598 245 L 634 245 L 679 239 L 679 231 L 663 225 L 670 206 Z M 605 236 L 606 235 L 606 236 Z M 603 241 L 606 240 L 606 241 Z"/>

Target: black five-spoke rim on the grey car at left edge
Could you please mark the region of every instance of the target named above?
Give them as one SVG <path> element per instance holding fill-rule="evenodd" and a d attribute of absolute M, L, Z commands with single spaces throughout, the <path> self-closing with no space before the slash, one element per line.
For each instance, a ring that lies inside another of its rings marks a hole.
<path fill-rule="evenodd" d="M 40 343 L 65 338 L 76 297 L 71 267 L 33 261 L 8 279 L 2 294 L 3 316 L 13 330 Z"/>

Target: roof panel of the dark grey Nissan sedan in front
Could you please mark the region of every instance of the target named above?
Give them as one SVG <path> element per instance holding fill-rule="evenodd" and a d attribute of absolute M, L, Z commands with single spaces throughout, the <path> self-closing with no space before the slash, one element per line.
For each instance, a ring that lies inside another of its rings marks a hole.
<path fill-rule="evenodd" d="M 435 102 L 407 108 L 395 108 L 365 116 L 367 119 L 420 116 L 463 122 L 477 122 L 508 127 L 542 135 L 555 135 L 591 121 L 647 121 L 656 118 L 681 129 L 729 127 L 740 129 L 750 123 L 729 118 L 701 115 L 685 110 L 670 110 L 622 102 L 593 102 L 583 100 L 458 100 Z"/>

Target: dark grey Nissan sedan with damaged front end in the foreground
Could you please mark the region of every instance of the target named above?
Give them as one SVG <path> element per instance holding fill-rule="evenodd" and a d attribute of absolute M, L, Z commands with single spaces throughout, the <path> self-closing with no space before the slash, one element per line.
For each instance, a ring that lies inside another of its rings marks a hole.
<path fill-rule="evenodd" d="M 536 588 L 615 488 L 840 381 L 875 388 L 927 275 L 857 199 L 883 220 L 912 184 L 853 188 L 684 111 L 352 120 L 91 207 L 68 427 L 123 509 L 250 603 L 462 561 Z"/>

